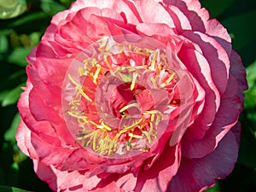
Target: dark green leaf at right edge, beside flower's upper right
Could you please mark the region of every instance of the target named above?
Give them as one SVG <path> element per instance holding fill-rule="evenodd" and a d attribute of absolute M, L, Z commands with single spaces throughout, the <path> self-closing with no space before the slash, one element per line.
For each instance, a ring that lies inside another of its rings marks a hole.
<path fill-rule="evenodd" d="M 232 39 L 234 49 L 242 49 L 256 39 L 255 18 L 256 11 L 251 11 L 222 21 L 222 24 L 228 29 L 228 32 L 232 33 L 234 36 Z"/>

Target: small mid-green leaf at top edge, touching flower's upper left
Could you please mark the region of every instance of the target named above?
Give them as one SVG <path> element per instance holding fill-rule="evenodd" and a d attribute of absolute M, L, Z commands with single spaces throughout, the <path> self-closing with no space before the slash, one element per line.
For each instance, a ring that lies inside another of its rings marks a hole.
<path fill-rule="evenodd" d="M 41 0 L 41 9 L 49 15 L 55 15 L 66 8 L 62 4 L 56 3 L 53 0 Z"/>

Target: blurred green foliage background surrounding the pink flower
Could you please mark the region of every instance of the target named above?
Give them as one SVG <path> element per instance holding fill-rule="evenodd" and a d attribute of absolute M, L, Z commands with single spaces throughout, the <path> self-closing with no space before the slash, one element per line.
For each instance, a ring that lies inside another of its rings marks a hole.
<path fill-rule="evenodd" d="M 32 160 L 17 148 L 20 121 L 16 102 L 26 82 L 26 55 L 38 44 L 53 15 L 72 0 L 0 0 L 0 192 L 51 191 L 33 172 Z M 212 18 L 230 33 L 247 69 L 249 90 L 240 121 L 239 157 L 230 176 L 207 192 L 256 191 L 256 3 L 254 0 L 201 0 Z M 185 183 L 184 183 L 185 184 Z M 3 187 L 4 186 L 4 187 Z"/>

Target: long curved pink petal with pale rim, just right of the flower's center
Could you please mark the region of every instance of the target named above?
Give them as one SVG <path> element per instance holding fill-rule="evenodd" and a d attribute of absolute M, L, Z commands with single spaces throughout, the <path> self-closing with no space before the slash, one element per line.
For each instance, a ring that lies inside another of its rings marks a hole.
<path fill-rule="evenodd" d="M 178 55 L 188 68 L 189 73 L 194 76 L 206 92 L 204 108 L 186 133 L 188 140 L 202 138 L 205 131 L 212 125 L 215 113 L 219 107 L 220 96 L 218 89 L 212 80 L 209 63 L 201 53 L 194 49 L 181 49 Z"/>

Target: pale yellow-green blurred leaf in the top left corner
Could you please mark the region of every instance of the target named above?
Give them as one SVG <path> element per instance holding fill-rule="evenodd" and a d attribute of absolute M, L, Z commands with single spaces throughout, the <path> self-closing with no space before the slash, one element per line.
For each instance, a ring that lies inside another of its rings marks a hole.
<path fill-rule="evenodd" d="M 0 0 L 0 19 L 10 19 L 26 11 L 26 0 Z"/>

